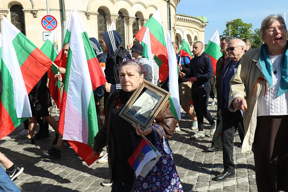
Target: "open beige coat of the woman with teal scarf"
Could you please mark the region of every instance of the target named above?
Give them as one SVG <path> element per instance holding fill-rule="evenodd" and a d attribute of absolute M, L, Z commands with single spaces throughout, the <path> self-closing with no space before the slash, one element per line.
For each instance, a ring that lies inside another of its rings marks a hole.
<path fill-rule="evenodd" d="M 257 124 L 257 99 L 265 84 L 263 80 L 256 80 L 263 77 L 259 64 L 259 48 L 245 53 L 239 63 L 238 69 L 230 80 L 229 110 L 234 112 L 233 101 L 236 97 L 245 98 L 247 109 L 243 112 L 245 136 L 242 145 L 242 153 L 250 152 L 254 141 L 254 134 Z M 256 83 L 256 84 L 255 84 Z M 253 90 L 255 91 L 253 93 Z"/>

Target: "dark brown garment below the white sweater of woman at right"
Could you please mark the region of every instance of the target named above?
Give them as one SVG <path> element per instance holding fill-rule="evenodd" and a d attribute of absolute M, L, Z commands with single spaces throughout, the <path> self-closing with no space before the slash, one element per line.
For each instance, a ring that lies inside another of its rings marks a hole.
<path fill-rule="evenodd" d="M 288 191 L 287 125 L 288 115 L 257 117 L 253 146 L 259 192 Z"/>

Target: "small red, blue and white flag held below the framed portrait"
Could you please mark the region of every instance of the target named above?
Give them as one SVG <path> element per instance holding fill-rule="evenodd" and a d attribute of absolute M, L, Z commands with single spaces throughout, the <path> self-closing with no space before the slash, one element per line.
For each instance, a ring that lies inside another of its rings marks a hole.
<path fill-rule="evenodd" d="M 144 166 L 154 158 L 157 158 L 157 154 L 147 140 L 143 138 L 133 155 L 129 157 L 128 162 L 135 171 L 136 177 L 138 177 Z"/>

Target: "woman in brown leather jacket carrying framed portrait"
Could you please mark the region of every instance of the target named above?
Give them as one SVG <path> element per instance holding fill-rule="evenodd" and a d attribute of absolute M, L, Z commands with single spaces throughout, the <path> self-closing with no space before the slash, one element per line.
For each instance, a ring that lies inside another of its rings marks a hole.
<path fill-rule="evenodd" d="M 135 130 L 131 123 L 119 116 L 119 113 L 122 111 L 125 104 L 142 83 L 144 71 L 143 66 L 138 60 L 127 60 L 119 66 L 119 77 L 122 89 L 113 92 L 109 96 L 105 107 L 105 121 L 103 127 L 99 129 L 94 138 L 95 155 L 98 155 L 108 142 L 108 163 L 111 181 L 113 182 L 113 192 L 131 191 L 132 187 L 135 189 L 135 186 L 137 188 L 136 184 L 139 184 L 141 181 L 139 180 L 138 183 L 134 183 L 136 179 L 134 177 L 134 170 L 130 167 L 127 160 L 138 147 L 139 141 L 142 139 L 141 134 L 147 138 L 151 138 L 152 143 L 155 139 L 155 128 L 150 126 L 143 131 L 138 125 L 137 130 Z M 155 125 L 159 128 L 159 130 L 157 130 L 159 140 L 166 140 L 173 135 L 177 119 L 171 113 L 169 103 L 160 110 L 155 121 Z M 161 131 L 164 134 L 162 134 Z M 165 138 L 163 138 L 163 135 L 165 135 Z M 148 178 L 152 182 L 151 176 L 148 175 Z M 179 180 L 178 175 L 177 178 Z M 144 180 L 145 179 L 147 178 L 144 178 Z M 143 186 L 141 186 L 141 188 L 145 190 L 149 187 L 146 185 Z M 141 191 L 141 189 L 139 190 Z"/>

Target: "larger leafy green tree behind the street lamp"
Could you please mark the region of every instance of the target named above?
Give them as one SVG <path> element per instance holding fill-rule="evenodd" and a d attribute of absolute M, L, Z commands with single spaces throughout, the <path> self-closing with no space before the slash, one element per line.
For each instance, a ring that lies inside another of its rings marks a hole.
<path fill-rule="evenodd" d="M 252 24 L 244 23 L 241 19 L 234 19 L 231 23 L 231 35 L 238 39 L 247 38 L 251 39 L 252 36 Z M 224 36 L 229 35 L 229 24 L 226 24 L 226 29 L 223 31 L 223 34 L 220 35 L 220 39 Z"/>

